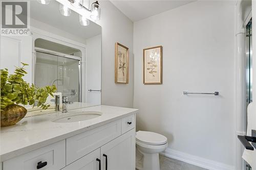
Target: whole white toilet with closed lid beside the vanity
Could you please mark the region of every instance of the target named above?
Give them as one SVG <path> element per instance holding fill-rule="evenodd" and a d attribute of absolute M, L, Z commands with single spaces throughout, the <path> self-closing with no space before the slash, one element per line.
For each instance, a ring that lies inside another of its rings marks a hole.
<path fill-rule="evenodd" d="M 167 147 L 167 138 L 161 134 L 136 132 L 136 169 L 159 170 L 159 153 Z"/>

